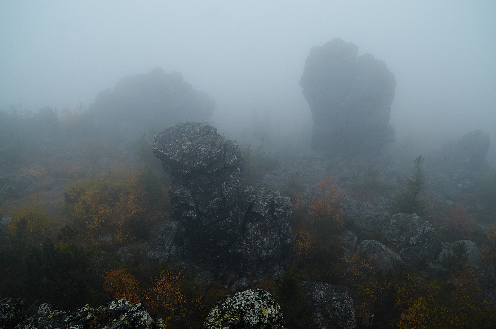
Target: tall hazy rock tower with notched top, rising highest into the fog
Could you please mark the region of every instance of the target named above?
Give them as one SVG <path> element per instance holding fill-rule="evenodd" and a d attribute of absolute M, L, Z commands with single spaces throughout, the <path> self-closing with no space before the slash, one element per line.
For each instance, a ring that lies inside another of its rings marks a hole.
<path fill-rule="evenodd" d="M 394 142 L 389 125 L 396 81 L 372 54 L 333 39 L 310 49 L 300 80 L 314 122 L 313 150 L 374 152 Z"/>

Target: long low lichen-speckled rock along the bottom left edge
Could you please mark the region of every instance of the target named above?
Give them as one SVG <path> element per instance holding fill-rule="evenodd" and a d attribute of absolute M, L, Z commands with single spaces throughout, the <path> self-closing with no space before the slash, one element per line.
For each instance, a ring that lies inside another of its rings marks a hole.
<path fill-rule="evenodd" d="M 129 301 L 122 299 L 96 309 L 86 305 L 74 311 L 49 310 L 17 326 L 17 329 L 34 328 L 165 329 L 165 322 L 162 318 L 150 316 L 141 303 L 130 305 Z"/>

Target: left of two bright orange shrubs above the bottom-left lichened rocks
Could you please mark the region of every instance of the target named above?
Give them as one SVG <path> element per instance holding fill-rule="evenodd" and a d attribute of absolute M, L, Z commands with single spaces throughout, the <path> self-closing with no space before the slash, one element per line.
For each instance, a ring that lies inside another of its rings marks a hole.
<path fill-rule="evenodd" d="M 138 282 L 127 267 L 105 271 L 103 290 L 115 299 L 126 299 L 131 304 L 141 302 Z"/>

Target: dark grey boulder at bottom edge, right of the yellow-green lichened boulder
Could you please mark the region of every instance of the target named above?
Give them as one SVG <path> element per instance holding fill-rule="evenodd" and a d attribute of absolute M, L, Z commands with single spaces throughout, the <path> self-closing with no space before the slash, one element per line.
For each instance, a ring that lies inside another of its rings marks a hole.
<path fill-rule="evenodd" d="M 322 282 L 302 282 L 312 312 L 311 329 L 355 329 L 353 299 L 340 288 Z"/>

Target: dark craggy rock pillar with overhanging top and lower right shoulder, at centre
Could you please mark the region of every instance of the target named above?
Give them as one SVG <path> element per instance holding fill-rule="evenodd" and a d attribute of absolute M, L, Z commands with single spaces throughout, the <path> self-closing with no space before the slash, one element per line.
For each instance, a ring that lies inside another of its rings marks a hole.
<path fill-rule="evenodd" d="M 186 258 L 255 270 L 278 262 L 292 241 L 289 198 L 241 187 L 245 156 L 208 123 L 181 123 L 153 140 L 171 174 L 169 197 L 181 220 Z"/>

